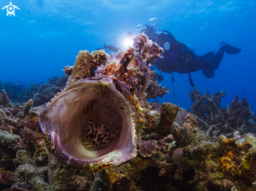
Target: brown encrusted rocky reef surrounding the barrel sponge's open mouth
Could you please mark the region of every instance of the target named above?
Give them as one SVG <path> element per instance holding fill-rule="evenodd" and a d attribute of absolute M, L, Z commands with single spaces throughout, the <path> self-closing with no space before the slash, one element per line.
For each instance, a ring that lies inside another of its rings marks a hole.
<path fill-rule="evenodd" d="M 81 51 L 75 65 L 65 68 L 70 75 L 66 87 L 79 88 L 81 83 L 87 85 L 84 80 L 93 80 L 101 83 L 98 86 L 102 91 L 108 91 L 109 86 L 124 95 L 136 129 L 137 156 L 118 164 L 109 161 L 108 165 L 97 161 L 82 166 L 66 162 L 50 134 L 42 132 L 39 112 L 43 108 L 46 111 L 58 96 L 72 88 L 55 95 L 47 106 L 35 106 L 36 100 L 13 105 L 8 101 L 12 100 L 8 91 L 2 90 L 1 190 L 256 190 L 255 116 L 250 105 L 245 99 L 237 102 L 235 98 L 230 107 L 220 109 L 224 92 L 204 95 L 196 89 L 191 91 L 191 112 L 171 103 L 148 103 L 149 94 L 144 91 L 155 80 L 148 70 L 154 57 L 147 53 L 158 46 L 150 42 L 144 46 L 147 38 L 137 38 L 141 40 L 138 46 L 135 43 L 112 57 L 104 51 Z M 99 54 L 101 58 L 95 56 Z M 76 73 L 76 68 L 82 73 Z M 99 105 L 105 111 L 107 104 Z"/>

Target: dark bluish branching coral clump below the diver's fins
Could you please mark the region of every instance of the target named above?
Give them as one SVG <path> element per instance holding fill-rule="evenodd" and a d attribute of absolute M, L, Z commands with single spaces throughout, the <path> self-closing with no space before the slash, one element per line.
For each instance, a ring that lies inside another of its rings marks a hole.
<path fill-rule="evenodd" d="M 236 97 L 231 106 L 227 109 L 220 108 L 220 99 L 225 96 L 226 92 L 217 92 L 213 95 L 199 93 L 197 89 L 191 90 L 190 98 L 195 102 L 191 106 L 193 113 L 201 130 L 206 135 L 216 140 L 219 135 L 233 137 L 235 131 L 241 135 L 246 133 L 256 133 L 255 114 L 251 111 L 251 106 L 243 98 L 238 102 Z"/>

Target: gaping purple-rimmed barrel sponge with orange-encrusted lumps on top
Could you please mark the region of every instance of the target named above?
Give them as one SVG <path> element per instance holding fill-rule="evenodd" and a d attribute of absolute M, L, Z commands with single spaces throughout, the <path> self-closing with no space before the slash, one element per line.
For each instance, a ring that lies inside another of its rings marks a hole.
<path fill-rule="evenodd" d="M 136 157 L 136 130 L 148 107 L 148 66 L 162 51 L 144 34 L 125 53 L 80 51 L 66 88 L 39 113 L 50 150 L 61 162 L 99 169 Z"/>

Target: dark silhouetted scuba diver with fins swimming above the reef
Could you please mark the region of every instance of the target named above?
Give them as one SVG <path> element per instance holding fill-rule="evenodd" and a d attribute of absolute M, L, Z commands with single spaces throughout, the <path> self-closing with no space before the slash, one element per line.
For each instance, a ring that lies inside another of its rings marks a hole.
<path fill-rule="evenodd" d="M 142 32 L 164 49 L 163 58 L 154 59 L 151 64 L 166 73 L 185 74 L 203 70 L 206 78 L 213 78 L 214 70 L 219 67 L 225 52 L 228 54 L 241 52 L 237 47 L 220 42 L 221 47 L 216 54 L 209 51 L 203 56 L 198 56 L 184 43 L 177 41 L 169 31 L 155 31 L 153 27 L 146 25 L 141 28 Z"/>

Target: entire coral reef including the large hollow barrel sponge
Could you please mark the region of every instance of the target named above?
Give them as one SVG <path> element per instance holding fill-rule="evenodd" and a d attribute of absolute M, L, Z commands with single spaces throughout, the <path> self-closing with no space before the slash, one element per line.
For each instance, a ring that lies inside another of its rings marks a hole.
<path fill-rule="evenodd" d="M 194 114 L 171 103 L 149 104 L 148 67 L 161 51 L 143 34 L 128 50 L 114 55 L 81 51 L 74 66 L 64 69 L 70 76 L 67 86 L 47 105 L 33 107 L 35 100 L 23 106 L 1 105 L 0 190 L 256 190 L 256 135 L 248 133 L 254 127 L 248 128 L 253 113 L 246 100 L 236 98 L 223 110 L 219 101 L 224 92 L 202 95 L 195 90 Z M 202 110 L 196 104 L 204 104 Z M 207 121 L 204 113 L 213 118 Z M 214 128 L 207 133 L 220 114 L 227 117 L 223 124 L 241 135 L 215 133 Z M 67 123 L 59 121 L 59 126 L 53 122 L 60 116 Z M 100 144 L 93 134 L 88 136 L 92 130 L 104 132 L 102 123 L 116 130 L 103 135 L 116 135 L 113 142 Z M 241 126 L 247 130 L 242 132 Z M 76 147 L 69 146 L 77 141 L 92 155 L 79 156 Z M 68 147 L 76 153 L 65 150 Z M 128 148 L 123 155 L 122 148 Z M 110 158 L 95 160 L 102 150 Z"/>

